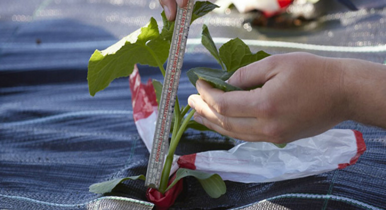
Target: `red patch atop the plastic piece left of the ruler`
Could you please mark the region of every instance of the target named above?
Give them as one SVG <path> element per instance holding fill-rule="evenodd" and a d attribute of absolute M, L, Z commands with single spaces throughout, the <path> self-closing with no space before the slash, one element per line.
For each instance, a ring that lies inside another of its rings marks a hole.
<path fill-rule="evenodd" d="M 147 118 L 157 106 L 157 96 L 155 95 L 151 79 L 146 84 L 141 83 L 137 65 L 134 66 L 133 72 L 129 77 L 131 103 L 133 105 L 134 121 Z"/>

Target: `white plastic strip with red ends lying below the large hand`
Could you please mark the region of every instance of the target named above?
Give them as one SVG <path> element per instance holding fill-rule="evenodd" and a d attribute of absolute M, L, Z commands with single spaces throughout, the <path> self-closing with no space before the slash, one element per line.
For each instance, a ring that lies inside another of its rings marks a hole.
<path fill-rule="evenodd" d="M 280 181 L 344 168 L 366 149 L 362 135 L 331 129 L 278 148 L 268 142 L 245 142 L 230 150 L 179 157 L 181 167 L 218 173 L 224 180 L 244 183 Z"/>

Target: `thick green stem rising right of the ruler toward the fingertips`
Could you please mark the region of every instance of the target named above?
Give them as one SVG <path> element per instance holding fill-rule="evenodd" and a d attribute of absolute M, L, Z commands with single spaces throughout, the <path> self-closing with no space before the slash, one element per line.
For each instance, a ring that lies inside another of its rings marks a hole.
<path fill-rule="evenodd" d="M 182 136 L 182 133 L 185 131 L 185 128 L 187 126 L 187 123 L 190 121 L 191 117 L 195 113 L 195 109 L 192 109 L 189 114 L 186 116 L 186 118 L 182 121 L 181 126 L 179 127 L 177 134 L 175 134 L 174 138 L 170 141 L 169 151 L 166 156 L 165 164 L 163 165 L 162 175 L 161 175 L 161 182 L 159 184 L 159 191 L 161 193 L 165 192 L 165 189 L 167 188 L 167 182 L 169 180 L 169 174 L 170 174 L 170 168 L 171 164 L 173 163 L 173 156 L 175 149 L 177 148 L 177 145 L 179 143 L 179 140 Z M 176 130 L 173 128 L 173 133 Z"/>

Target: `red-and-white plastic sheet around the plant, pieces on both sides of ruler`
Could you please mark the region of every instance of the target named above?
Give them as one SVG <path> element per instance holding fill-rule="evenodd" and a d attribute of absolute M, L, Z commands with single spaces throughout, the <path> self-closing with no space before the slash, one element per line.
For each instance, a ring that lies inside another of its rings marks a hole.
<path fill-rule="evenodd" d="M 135 67 L 130 75 L 130 89 L 135 125 L 150 151 L 157 116 L 153 85 L 151 81 L 141 84 Z M 359 131 L 330 129 L 288 143 L 284 148 L 268 142 L 244 142 L 230 150 L 175 155 L 170 174 L 178 167 L 185 167 L 244 183 L 280 181 L 344 168 L 354 164 L 365 150 Z"/>

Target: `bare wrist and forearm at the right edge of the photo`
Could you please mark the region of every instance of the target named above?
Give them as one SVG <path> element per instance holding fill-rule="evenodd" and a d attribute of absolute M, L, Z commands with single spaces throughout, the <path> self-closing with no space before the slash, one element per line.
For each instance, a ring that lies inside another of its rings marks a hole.
<path fill-rule="evenodd" d="M 386 126 L 386 66 L 359 59 L 339 59 L 347 98 L 347 119 Z"/>

